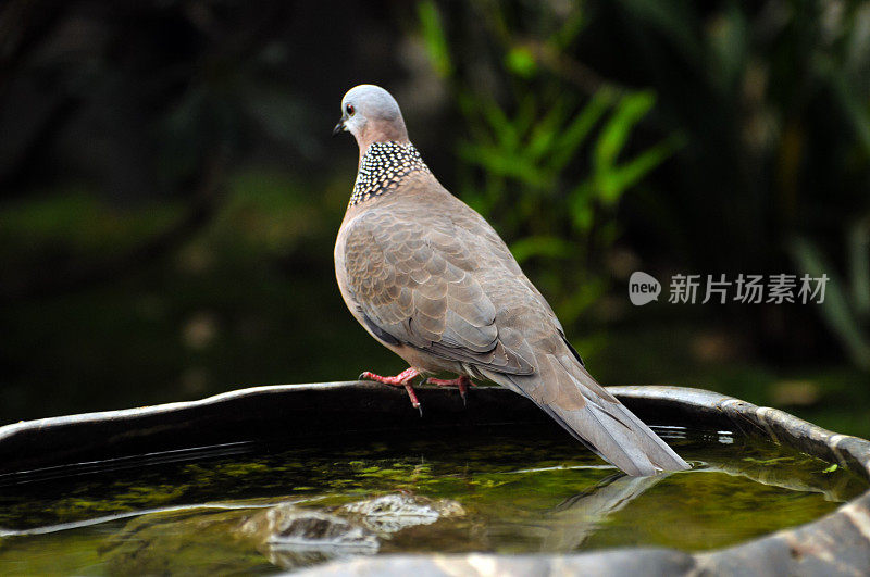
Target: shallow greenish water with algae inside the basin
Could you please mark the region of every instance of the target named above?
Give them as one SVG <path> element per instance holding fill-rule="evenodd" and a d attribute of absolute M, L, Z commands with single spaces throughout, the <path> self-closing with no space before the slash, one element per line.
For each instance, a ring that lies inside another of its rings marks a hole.
<path fill-rule="evenodd" d="M 867 490 L 842 467 L 771 442 L 657 430 L 692 471 L 619 476 L 567 435 L 514 426 L 474 437 L 233 444 L 0 476 L 0 574 L 296 568 L 349 549 L 277 551 L 240 527 L 279 503 L 334 516 L 385 494 L 450 500 L 462 513 L 380 531 L 380 553 L 695 551 L 810 522 Z"/>

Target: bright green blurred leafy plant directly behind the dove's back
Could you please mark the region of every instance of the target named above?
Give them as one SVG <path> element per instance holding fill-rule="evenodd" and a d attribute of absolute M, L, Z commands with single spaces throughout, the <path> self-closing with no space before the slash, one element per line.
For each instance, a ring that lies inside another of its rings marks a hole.
<path fill-rule="evenodd" d="M 499 72 L 483 85 L 469 72 L 469 59 L 480 53 L 451 47 L 435 3 L 418 4 L 433 68 L 450 87 L 465 126 L 457 146 L 459 192 L 498 224 L 570 325 L 609 288 L 602 255 L 620 234 L 620 199 L 681 140 L 673 135 L 633 150 L 655 92 L 597 79 L 589 86 L 566 72 L 577 67 L 566 65 L 566 50 L 584 29 L 580 8 L 556 14 L 546 4 L 526 7 L 532 13 L 521 22 L 538 23 L 534 29 L 510 25 L 500 4 L 475 9 L 488 26 L 492 68 Z"/>

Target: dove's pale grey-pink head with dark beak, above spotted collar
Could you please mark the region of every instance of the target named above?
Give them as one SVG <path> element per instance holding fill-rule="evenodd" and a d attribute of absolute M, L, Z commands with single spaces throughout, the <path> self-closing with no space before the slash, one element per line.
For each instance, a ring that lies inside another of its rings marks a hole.
<path fill-rule="evenodd" d="M 355 86 L 341 99 L 341 120 L 333 134 L 341 131 L 353 135 L 360 154 L 372 142 L 408 142 L 408 130 L 396 99 L 371 84 Z"/>

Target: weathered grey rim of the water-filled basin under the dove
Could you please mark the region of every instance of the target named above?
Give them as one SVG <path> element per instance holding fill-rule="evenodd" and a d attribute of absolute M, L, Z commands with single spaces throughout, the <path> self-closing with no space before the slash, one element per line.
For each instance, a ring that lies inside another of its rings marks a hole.
<path fill-rule="evenodd" d="M 716 426 L 730 424 L 736 431 L 766 436 L 847 467 L 870 480 L 870 441 L 825 430 L 784 411 L 757 406 L 704 389 L 669 386 L 607 388 L 642 418 L 664 415 L 662 418 L 692 417 Z M 536 407 L 529 411 L 523 405 L 531 404 L 529 401 L 505 389 L 478 387 L 470 392 L 480 398 L 474 403 L 478 406 L 474 407 L 473 402 L 470 402 L 469 406 L 473 409 L 464 410 L 463 413 L 464 407 L 456 399 L 451 402 L 443 389 L 419 389 L 424 407 L 431 406 L 434 410 L 430 411 L 428 418 L 420 419 L 424 422 L 423 426 L 437 425 L 437 419 L 433 419 L 431 413 L 438 414 L 439 411 L 444 413 L 442 417 L 447 415 L 451 419 L 461 415 L 467 418 L 465 424 L 471 426 L 496 423 L 493 419 L 496 416 L 495 411 L 489 410 L 484 401 L 497 405 L 496 410 L 508 407 L 515 418 L 533 418 L 539 413 Z M 129 448 L 141 441 L 135 434 L 137 427 L 145 431 L 146 440 L 165 440 L 177 437 L 177 430 L 185 426 L 192 428 L 215 424 L 222 416 L 233 414 L 240 418 L 240 409 L 300 411 L 293 403 L 283 405 L 281 402 L 294 399 L 304 398 L 308 402 L 313 400 L 314 410 L 348 411 L 347 406 L 334 406 L 337 393 L 343 399 L 351 398 L 356 403 L 352 405 L 355 411 L 363 411 L 368 406 L 385 414 L 394 412 L 402 415 L 391 419 L 394 425 L 421 426 L 410 418 L 410 403 L 405 392 L 382 385 L 362 381 L 273 385 L 224 392 L 196 401 L 47 417 L 5 425 L 0 427 L 0 463 L 9 463 L 10 457 L 26 454 L 22 451 L 33 451 L 42 440 L 49 440 L 49 448 L 52 442 L 57 443 L 61 454 L 74 456 L 75 453 L 64 453 L 70 450 L 71 437 L 89 435 L 92 439 L 97 435 L 100 440 L 116 443 L 120 448 Z M 324 399 L 330 402 L 323 404 Z M 304 411 L 311 413 L 312 407 Z M 413 411 L 414 415 L 415 413 Z M 45 444 L 41 450 L 46 450 Z M 0 469 L 0 477 L 10 475 L 9 471 Z M 488 566 L 493 574 L 580 575 L 594 572 L 601 575 L 861 575 L 870 572 L 870 490 L 815 522 L 718 551 L 689 554 L 667 549 L 624 548 L 571 555 L 382 555 L 330 563 L 302 574 L 407 575 L 410 570 L 425 575 L 480 574 L 475 567 L 482 566 L 481 564 Z"/>

